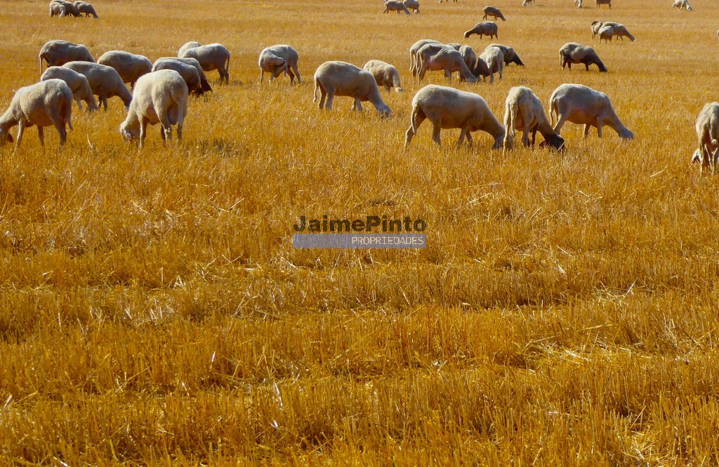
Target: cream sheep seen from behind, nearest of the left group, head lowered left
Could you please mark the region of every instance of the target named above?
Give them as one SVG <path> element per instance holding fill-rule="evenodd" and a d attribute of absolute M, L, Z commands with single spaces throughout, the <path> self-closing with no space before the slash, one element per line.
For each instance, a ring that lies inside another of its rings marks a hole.
<path fill-rule="evenodd" d="M 187 116 L 188 88 L 180 73 L 175 70 L 157 70 L 142 75 L 132 93 L 132 104 L 127 117 L 120 124 L 125 139 L 139 139 L 145 144 L 147 124 L 160 124 L 162 142 L 172 137 L 173 125 L 178 127 L 178 140 Z"/>

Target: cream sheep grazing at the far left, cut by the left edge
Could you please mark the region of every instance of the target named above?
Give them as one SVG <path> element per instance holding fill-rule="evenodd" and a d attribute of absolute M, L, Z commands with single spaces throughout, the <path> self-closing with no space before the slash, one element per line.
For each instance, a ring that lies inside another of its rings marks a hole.
<path fill-rule="evenodd" d="M 0 145 L 12 143 L 10 129 L 18 125 L 15 149 L 20 147 L 22 133 L 27 126 L 37 126 L 37 137 L 45 147 L 45 126 L 54 125 L 60 133 L 60 146 L 65 144 L 68 132 L 65 124 L 73 129 L 70 116 L 73 112 L 73 91 L 63 80 L 49 79 L 19 88 L 10 106 L 0 116 Z"/>

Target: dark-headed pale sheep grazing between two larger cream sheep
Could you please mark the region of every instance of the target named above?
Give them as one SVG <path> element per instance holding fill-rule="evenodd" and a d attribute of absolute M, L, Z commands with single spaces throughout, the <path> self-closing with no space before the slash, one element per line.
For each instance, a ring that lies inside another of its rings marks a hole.
<path fill-rule="evenodd" d="M 504 139 L 504 148 L 512 149 L 515 130 L 522 131 L 522 144 L 529 147 L 529 133 L 531 131 L 531 147 L 537 131 L 544 137 L 544 141 L 554 149 L 564 148 L 564 138 L 560 137 L 549 124 L 544 113 L 541 101 L 531 89 L 524 86 L 511 88 L 505 101 L 504 126 L 507 136 Z"/>

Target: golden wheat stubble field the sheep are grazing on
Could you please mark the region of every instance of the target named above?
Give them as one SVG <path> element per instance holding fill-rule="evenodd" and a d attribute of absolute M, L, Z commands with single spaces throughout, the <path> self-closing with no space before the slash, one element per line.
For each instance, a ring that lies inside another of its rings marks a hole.
<path fill-rule="evenodd" d="M 47 465 L 715 465 L 719 176 L 690 165 L 717 100 L 719 6 L 693 0 L 498 0 L 498 42 L 545 103 L 608 93 L 636 134 L 562 131 L 567 152 L 455 149 L 431 126 L 403 149 L 418 39 L 462 33 L 480 0 L 422 14 L 379 1 L 97 1 L 51 19 L 5 1 L 0 110 L 52 39 L 155 60 L 189 40 L 232 52 L 230 85 L 192 99 L 183 143 L 124 144 L 118 98 L 73 109 L 68 146 L 30 129 L 0 148 L 0 463 Z M 586 2 L 589 3 L 589 2 Z M 592 42 L 595 20 L 636 42 Z M 559 68 L 564 42 L 609 73 Z M 303 83 L 258 85 L 290 44 Z M 311 102 L 325 60 L 400 70 L 393 110 Z M 428 73 L 428 83 L 444 83 Z M 422 250 L 296 250 L 299 216 L 427 222 Z"/>

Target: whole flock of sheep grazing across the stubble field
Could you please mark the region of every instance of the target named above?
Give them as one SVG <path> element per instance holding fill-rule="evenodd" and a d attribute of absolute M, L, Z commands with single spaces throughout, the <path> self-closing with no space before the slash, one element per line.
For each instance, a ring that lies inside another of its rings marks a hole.
<path fill-rule="evenodd" d="M 597 6 L 603 3 L 608 1 L 597 1 Z M 419 11 L 416 0 L 405 0 L 404 3 L 388 0 L 385 6 L 385 11 L 408 8 Z M 92 6 L 82 1 L 75 4 L 65 0 L 50 2 L 51 16 L 79 16 L 87 11 L 94 14 Z M 493 17 L 495 21 L 506 21 L 502 12 L 494 6 L 486 6 L 483 11 L 484 19 Z M 497 29 L 494 22 L 480 22 L 465 32 L 464 37 L 472 34 L 498 37 Z M 591 29 L 592 37 L 598 35 L 600 40 L 611 40 L 612 37 L 634 40 L 623 24 L 592 22 Z M 505 65 L 523 65 L 512 47 L 501 44 L 490 44 L 477 55 L 468 45 L 419 40 L 410 48 L 410 58 L 411 73 L 420 82 L 428 70 L 438 70 L 444 71 L 450 81 L 452 75 L 458 72 L 459 80 L 474 83 L 489 76 L 492 83 L 494 73 L 502 78 Z M 24 129 L 33 125 L 37 126 L 42 144 L 43 128 L 50 125 L 58 129 L 60 145 L 65 144 L 65 125 L 72 129 L 70 115 L 73 101 L 77 102 L 78 108 L 82 108 L 81 102 L 84 101 L 88 110 L 93 111 L 98 108 L 94 96 L 98 96 L 104 108 L 107 108 L 108 98 L 117 96 L 122 99 L 127 108 L 127 118 L 120 126 L 120 133 L 127 139 L 139 140 L 140 147 L 145 141 L 147 124 L 161 124 L 163 141 L 170 138 L 172 127 L 176 125 L 178 139 L 181 139 L 188 95 L 212 90 L 204 72 L 217 70 L 220 82 L 229 83 L 230 52 L 221 44 L 188 42 L 180 48 L 177 57 L 161 57 L 152 63 L 147 57 L 122 50 L 106 52 L 96 61 L 84 45 L 52 40 L 42 47 L 38 60 L 40 82 L 20 88 L 7 111 L 0 116 L 0 144 L 13 141 L 9 130 L 15 125 L 19 126 L 16 147 L 19 147 Z M 270 75 L 270 83 L 282 73 L 290 77 L 290 85 L 295 78 L 300 83 L 298 60 L 298 52 L 289 45 L 265 48 L 260 52 L 258 61 L 260 83 L 265 73 Z M 562 68 L 581 63 L 587 70 L 593 64 L 600 72 L 607 71 L 592 47 L 574 42 L 559 49 L 559 60 Z M 48 65 L 44 72 L 43 62 Z M 125 83 L 129 83 L 129 89 Z M 362 102 L 369 101 L 384 117 L 390 116 L 391 109 L 383 101 L 380 86 L 388 91 L 391 88 L 403 91 L 397 68 L 381 60 L 370 60 L 363 68 L 339 61 L 325 62 L 314 73 L 313 83 L 313 101 L 319 94 L 320 108 L 331 109 L 335 96 L 349 96 L 354 100 L 353 109 L 361 111 Z M 481 130 L 493 137 L 494 149 L 512 149 L 517 131 L 523 132 L 523 145 L 533 147 L 539 131 L 544 138 L 540 147 L 562 150 L 564 138 L 559 136 L 559 132 L 567 121 L 584 125 L 585 137 L 591 126 L 597 128 L 599 137 L 602 137 L 603 126 L 615 130 L 620 138 L 634 137 L 620 121 L 609 97 L 585 85 L 560 85 L 551 94 L 549 112 L 551 123 L 541 101 L 531 89 L 515 87 L 510 89 L 506 98 L 504 124 L 501 124 L 484 99 L 476 93 L 426 85 L 412 99 L 411 125 L 405 134 L 405 145 L 410 144 L 426 119 L 433 125 L 432 139 L 436 144 L 441 144 L 441 129 L 460 129 L 457 146 L 464 139 L 471 144 L 472 132 Z M 719 159 L 719 103 L 709 103 L 702 109 L 696 129 L 699 149 L 693 154 L 692 161 L 700 162 L 702 166 L 711 165 L 713 169 Z"/>

